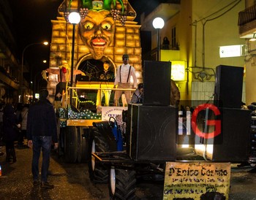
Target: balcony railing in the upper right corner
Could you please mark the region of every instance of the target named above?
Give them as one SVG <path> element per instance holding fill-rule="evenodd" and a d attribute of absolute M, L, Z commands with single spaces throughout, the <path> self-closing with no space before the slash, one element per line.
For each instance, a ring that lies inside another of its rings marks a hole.
<path fill-rule="evenodd" d="M 256 4 L 238 13 L 238 26 L 256 20 Z"/>

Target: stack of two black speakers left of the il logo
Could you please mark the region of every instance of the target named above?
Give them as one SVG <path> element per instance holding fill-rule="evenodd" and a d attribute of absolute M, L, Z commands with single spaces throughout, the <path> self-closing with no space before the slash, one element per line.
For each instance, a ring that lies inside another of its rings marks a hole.
<path fill-rule="evenodd" d="M 143 104 L 129 104 L 127 153 L 135 161 L 175 161 L 178 111 L 170 105 L 170 62 L 145 61 Z"/>

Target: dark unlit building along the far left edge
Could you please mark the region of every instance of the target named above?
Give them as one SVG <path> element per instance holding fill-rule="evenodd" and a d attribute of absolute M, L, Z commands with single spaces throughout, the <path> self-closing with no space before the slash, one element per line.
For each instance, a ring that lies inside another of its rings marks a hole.
<path fill-rule="evenodd" d="M 20 66 L 12 32 L 12 10 L 9 1 L 0 1 L 0 101 L 18 101 Z"/>

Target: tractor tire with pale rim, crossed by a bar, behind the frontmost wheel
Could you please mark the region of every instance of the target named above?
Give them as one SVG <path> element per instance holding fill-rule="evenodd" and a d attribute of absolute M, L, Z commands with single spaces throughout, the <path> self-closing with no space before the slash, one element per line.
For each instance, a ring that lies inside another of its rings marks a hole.
<path fill-rule="evenodd" d="M 99 133 L 97 128 L 94 128 L 90 139 L 89 139 L 89 151 L 91 153 L 96 152 L 109 152 L 109 146 L 105 141 L 105 138 Z M 91 182 L 94 183 L 107 183 L 108 182 L 108 169 L 105 168 L 102 164 L 99 164 L 95 161 L 93 155 L 89 158 L 89 177 Z"/>

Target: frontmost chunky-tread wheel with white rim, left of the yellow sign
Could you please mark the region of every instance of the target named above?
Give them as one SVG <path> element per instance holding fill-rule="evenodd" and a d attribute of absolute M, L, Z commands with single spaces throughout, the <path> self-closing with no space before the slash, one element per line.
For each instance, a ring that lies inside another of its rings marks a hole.
<path fill-rule="evenodd" d="M 135 171 L 112 167 L 109 173 L 108 190 L 111 199 L 135 199 Z"/>

